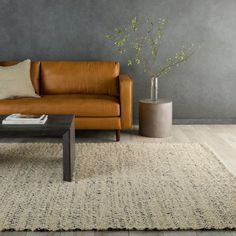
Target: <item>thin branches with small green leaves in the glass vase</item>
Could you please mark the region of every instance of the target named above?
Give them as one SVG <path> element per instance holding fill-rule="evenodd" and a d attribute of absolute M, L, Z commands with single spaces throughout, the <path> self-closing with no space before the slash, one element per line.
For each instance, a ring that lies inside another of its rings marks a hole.
<path fill-rule="evenodd" d="M 118 53 L 130 51 L 134 55 L 127 61 L 128 66 L 142 65 L 144 73 L 153 77 L 162 77 L 174 67 L 187 61 L 194 53 L 194 45 L 183 47 L 173 57 L 166 59 L 160 67 L 157 66 L 160 45 L 168 21 L 159 19 L 157 22 L 148 18 L 134 17 L 127 26 L 115 28 L 106 38 L 113 42 Z"/>

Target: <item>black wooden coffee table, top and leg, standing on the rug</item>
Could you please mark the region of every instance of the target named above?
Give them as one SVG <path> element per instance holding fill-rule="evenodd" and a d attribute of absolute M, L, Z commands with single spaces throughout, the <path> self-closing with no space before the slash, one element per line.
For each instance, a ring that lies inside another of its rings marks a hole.
<path fill-rule="evenodd" d="M 0 138 L 61 137 L 63 140 L 63 180 L 71 181 L 75 156 L 74 115 L 49 115 L 44 125 L 2 125 L 7 115 L 0 115 Z"/>

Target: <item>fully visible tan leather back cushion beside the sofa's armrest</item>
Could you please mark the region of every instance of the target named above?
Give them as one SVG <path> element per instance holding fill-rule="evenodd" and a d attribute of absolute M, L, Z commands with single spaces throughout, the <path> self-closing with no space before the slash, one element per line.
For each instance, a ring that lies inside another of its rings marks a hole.
<path fill-rule="evenodd" d="M 118 96 L 118 62 L 41 62 L 42 94 Z"/>

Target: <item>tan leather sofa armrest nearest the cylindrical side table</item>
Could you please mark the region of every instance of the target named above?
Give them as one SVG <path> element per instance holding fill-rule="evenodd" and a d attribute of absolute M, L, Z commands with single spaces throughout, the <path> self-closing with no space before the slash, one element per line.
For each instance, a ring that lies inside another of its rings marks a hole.
<path fill-rule="evenodd" d="M 132 127 L 133 81 L 128 75 L 119 76 L 121 128 Z"/>

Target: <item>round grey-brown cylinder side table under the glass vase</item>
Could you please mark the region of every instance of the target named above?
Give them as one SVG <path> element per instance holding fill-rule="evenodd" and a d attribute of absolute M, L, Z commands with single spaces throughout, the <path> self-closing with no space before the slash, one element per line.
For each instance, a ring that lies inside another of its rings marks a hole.
<path fill-rule="evenodd" d="M 146 137 L 171 136 L 172 101 L 158 99 L 139 101 L 139 134 Z"/>

